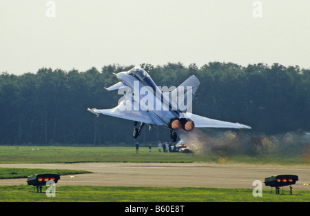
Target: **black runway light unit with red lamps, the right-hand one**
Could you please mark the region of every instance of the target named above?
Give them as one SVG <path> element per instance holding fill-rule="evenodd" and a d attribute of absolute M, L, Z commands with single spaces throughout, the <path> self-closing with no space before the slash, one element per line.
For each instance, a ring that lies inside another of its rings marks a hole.
<path fill-rule="evenodd" d="M 265 178 L 265 185 L 271 186 L 271 191 L 272 188 L 275 187 L 276 194 L 279 194 L 280 187 L 289 186 L 292 194 L 291 185 L 296 184 L 296 181 L 298 181 L 297 175 L 273 175 L 271 177 Z"/>

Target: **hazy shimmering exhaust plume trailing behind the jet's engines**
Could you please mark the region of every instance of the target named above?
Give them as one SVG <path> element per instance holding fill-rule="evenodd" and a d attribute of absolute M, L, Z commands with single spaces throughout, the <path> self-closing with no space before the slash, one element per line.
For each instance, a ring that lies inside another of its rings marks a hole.
<path fill-rule="evenodd" d="M 221 157 L 232 155 L 302 155 L 306 161 L 310 159 L 310 133 L 287 132 L 279 135 L 257 135 L 245 131 L 183 132 L 180 139 L 196 155 L 216 154 Z"/>

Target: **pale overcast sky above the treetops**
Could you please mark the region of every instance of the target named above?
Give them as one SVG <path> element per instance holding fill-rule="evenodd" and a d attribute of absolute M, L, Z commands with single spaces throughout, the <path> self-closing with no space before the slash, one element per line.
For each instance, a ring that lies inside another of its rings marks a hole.
<path fill-rule="evenodd" d="M 262 10 L 254 0 L 48 2 L 0 0 L 0 72 L 210 61 L 310 68 L 309 0 L 261 0 Z"/>

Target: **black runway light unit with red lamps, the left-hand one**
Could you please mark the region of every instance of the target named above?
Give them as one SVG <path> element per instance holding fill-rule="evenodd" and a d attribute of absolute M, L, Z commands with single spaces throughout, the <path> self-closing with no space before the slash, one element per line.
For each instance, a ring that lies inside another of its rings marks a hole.
<path fill-rule="evenodd" d="M 37 193 L 39 193 L 39 188 L 40 188 L 40 193 L 42 193 L 42 186 L 45 186 L 46 182 L 51 180 L 51 181 L 54 181 L 55 183 L 57 183 L 59 179 L 60 179 L 59 174 L 44 173 L 44 174 L 37 174 L 37 175 L 28 176 L 27 183 L 28 183 L 28 185 L 32 185 L 34 187 L 37 187 Z"/>

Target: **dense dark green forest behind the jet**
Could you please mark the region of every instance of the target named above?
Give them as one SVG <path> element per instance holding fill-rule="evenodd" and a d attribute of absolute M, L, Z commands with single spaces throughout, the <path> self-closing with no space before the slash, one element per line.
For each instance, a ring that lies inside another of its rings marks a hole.
<path fill-rule="evenodd" d="M 112 72 L 132 67 L 114 64 L 85 72 L 41 68 L 23 75 L 1 72 L 0 144 L 132 144 L 132 121 L 96 118 L 87 112 L 87 108 L 115 107 L 121 95 L 103 87 L 118 82 Z M 309 69 L 220 62 L 200 68 L 194 63 L 143 63 L 141 68 L 157 86 L 178 86 L 191 75 L 198 77 L 195 114 L 240 122 L 263 134 L 310 130 Z M 169 130 L 145 127 L 138 139 L 169 141 Z"/>

